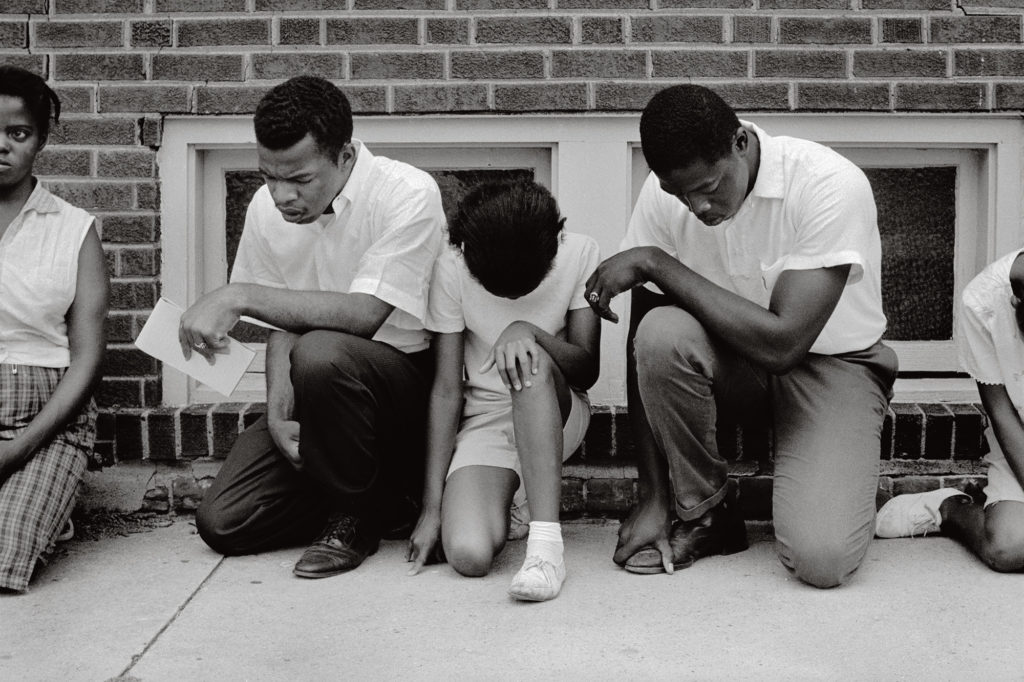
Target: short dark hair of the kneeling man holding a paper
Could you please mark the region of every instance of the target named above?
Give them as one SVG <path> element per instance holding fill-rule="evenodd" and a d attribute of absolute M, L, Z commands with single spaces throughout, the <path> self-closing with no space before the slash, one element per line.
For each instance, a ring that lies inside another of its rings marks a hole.
<path fill-rule="evenodd" d="M 253 117 L 256 140 L 270 150 L 287 150 L 306 134 L 332 162 L 352 139 L 352 109 L 333 83 L 296 76 L 270 89 Z"/>

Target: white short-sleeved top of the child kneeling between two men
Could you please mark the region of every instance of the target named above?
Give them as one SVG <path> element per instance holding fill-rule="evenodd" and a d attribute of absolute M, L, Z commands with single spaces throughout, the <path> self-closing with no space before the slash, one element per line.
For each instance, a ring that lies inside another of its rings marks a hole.
<path fill-rule="evenodd" d="M 511 400 L 496 369 L 479 372 L 501 333 L 521 319 L 564 339 L 568 311 L 588 307 L 584 290 L 599 262 L 597 242 L 563 232 L 547 276 L 525 296 L 509 299 L 495 296 L 474 280 L 458 249 L 450 247 L 441 253 L 430 286 L 427 324 L 441 334 L 465 332 L 464 415 L 489 412 Z"/>

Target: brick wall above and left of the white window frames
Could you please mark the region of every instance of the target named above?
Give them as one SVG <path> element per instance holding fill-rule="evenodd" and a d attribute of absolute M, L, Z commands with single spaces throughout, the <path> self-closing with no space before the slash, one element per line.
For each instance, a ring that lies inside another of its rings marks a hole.
<path fill-rule="evenodd" d="M 0 0 L 0 61 L 60 94 L 37 170 L 97 216 L 106 250 L 100 455 L 158 459 L 118 443 L 164 438 L 180 457 L 196 421 L 160 407 L 160 369 L 130 343 L 160 291 L 164 116 L 247 114 L 298 73 L 335 80 L 359 115 L 639 111 L 688 80 L 741 111 L 1017 112 L 1022 14 L 1022 0 Z"/>

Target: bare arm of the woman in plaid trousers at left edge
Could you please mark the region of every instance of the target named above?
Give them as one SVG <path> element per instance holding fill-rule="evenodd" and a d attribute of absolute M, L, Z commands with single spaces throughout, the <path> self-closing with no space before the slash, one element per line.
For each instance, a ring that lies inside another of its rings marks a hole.
<path fill-rule="evenodd" d="M 71 364 L 39 414 L 16 438 L 0 444 L 0 471 L 28 462 L 75 419 L 92 395 L 106 349 L 103 324 L 109 287 L 103 249 L 95 227 L 89 227 L 78 256 L 75 300 L 67 314 Z"/>

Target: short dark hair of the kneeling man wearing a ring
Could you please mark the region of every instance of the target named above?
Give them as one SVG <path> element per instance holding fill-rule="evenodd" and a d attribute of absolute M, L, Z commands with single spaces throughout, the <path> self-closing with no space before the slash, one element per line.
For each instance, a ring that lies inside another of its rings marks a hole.
<path fill-rule="evenodd" d="M 699 85 L 674 85 L 651 97 L 640 117 L 647 166 L 665 175 L 700 160 L 727 156 L 739 119 L 718 94 Z"/>

